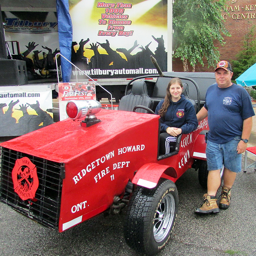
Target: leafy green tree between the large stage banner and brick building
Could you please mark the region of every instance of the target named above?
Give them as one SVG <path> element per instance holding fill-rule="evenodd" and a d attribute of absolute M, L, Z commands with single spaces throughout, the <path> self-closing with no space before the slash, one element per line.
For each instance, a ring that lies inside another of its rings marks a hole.
<path fill-rule="evenodd" d="M 174 57 L 183 62 L 188 72 L 188 62 L 195 71 L 195 65 L 204 65 L 205 57 L 208 67 L 219 61 L 218 48 L 214 40 L 222 45 L 222 33 L 230 35 L 225 29 L 222 12 L 225 0 L 176 0 L 173 4 L 173 48 Z"/>

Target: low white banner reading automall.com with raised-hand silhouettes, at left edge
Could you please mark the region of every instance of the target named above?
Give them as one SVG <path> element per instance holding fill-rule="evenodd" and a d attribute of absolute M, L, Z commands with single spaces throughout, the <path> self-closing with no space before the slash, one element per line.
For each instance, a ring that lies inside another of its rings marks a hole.
<path fill-rule="evenodd" d="M 53 124 L 52 90 L 42 86 L 0 87 L 0 136 L 19 136 Z"/>

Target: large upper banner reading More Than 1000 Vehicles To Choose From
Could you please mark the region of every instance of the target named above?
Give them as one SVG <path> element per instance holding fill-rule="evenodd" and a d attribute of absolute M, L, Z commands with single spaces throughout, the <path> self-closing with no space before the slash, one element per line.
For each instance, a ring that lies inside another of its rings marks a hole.
<path fill-rule="evenodd" d="M 71 61 L 92 78 L 157 74 L 150 55 L 167 71 L 167 1 L 69 0 L 69 13 Z"/>

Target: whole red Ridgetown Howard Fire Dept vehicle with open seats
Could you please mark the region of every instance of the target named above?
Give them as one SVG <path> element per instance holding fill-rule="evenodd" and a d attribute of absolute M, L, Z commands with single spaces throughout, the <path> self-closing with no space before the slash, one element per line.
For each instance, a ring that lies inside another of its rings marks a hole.
<path fill-rule="evenodd" d="M 59 232 L 124 208 L 127 244 L 146 255 L 161 251 L 178 210 L 174 182 L 191 167 L 199 168 L 202 185 L 207 179 L 207 119 L 179 136 L 173 152 L 159 155 L 159 115 L 150 113 L 180 75 L 133 79 L 118 110 L 69 101 L 69 119 L 1 143 L 1 202 Z M 197 111 L 214 74 L 186 75 L 184 94 Z"/>

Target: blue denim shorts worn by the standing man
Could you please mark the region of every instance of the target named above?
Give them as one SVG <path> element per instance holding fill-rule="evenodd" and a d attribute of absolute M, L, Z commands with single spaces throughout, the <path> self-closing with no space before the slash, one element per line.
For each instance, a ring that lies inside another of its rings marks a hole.
<path fill-rule="evenodd" d="M 207 141 L 206 158 L 207 169 L 218 170 L 222 165 L 231 172 L 241 172 L 242 154 L 237 154 L 237 144 L 240 142 L 241 136 L 236 136 L 224 144 L 216 144 Z"/>

